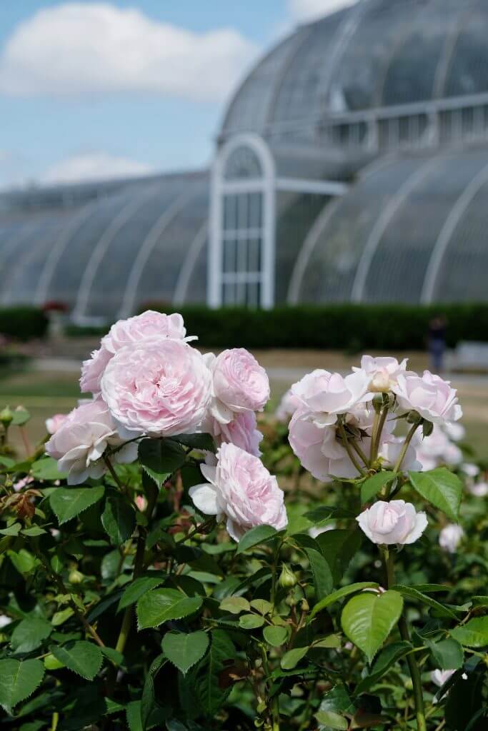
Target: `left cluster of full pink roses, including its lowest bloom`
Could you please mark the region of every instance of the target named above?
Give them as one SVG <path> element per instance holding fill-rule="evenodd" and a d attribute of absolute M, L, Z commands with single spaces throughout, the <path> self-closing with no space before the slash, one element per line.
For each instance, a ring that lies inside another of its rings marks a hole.
<path fill-rule="evenodd" d="M 92 398 L 48 420 L 46 452 L 76 485 L 101 477 L 113 461 L 134 461 L 142 437 L 209 433 L 220 447 L 209 483 L 218 494 L 202 501 L 195 491 L 197 507 L 226 515 L 233 537 L 259 523 L 281 528 L 282 492 L 258 458 L 266 371 L 245 349 L 202 355 L 194 339 L 180 314 L 146 311 L 116 322 L 83 362 L 80 387 Z"/>

